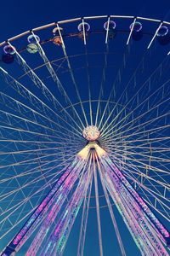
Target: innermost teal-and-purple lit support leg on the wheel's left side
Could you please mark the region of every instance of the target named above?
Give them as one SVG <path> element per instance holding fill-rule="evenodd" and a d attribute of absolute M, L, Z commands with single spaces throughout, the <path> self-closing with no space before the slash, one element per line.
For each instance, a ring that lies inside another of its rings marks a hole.
<path fill-rule="evenodd" d="M 86 167 L 88 167 L 88 171 L 86 170 Z M 59 253 L 62 255 L 65 250 L 65 241 L 67 241 L 68 236 L 70 235 L 71 227 L 77 218 L 77 212 L 79 211 L 82 205 L 82 200 L 86 195 L 86 190 L 88 189 L 90 178 L 92 178 L 92 172 L 90 173 L 91 169 L 87 160 L 85 160 L 84 166 L 82 166 L 79 171 L 82 171 L 82 173 L 80 173 L 77 188 L 71 195 L 71 200 L 65 207 L 65 211 L 60 214 L 58 222 L 51 230 L 48 236 L 48 241 L 46 241 L 44 244 L 42 252 L 44 252 L 45 255 L 54 255 L 54 253 Z M 69 221 L 70 214 L 72 216 L 71 221 Z"/>

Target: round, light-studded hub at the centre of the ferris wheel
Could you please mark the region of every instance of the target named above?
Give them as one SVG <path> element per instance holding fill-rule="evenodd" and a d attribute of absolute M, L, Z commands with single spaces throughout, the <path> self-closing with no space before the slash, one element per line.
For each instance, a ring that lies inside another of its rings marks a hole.
<path fill-rule="evenodd" d="M 94 125 L 88 125 L 82 131 L 82 136 L 87 139 L 89 142 L 93 142 L 99 138 L 99 129 Z"/>

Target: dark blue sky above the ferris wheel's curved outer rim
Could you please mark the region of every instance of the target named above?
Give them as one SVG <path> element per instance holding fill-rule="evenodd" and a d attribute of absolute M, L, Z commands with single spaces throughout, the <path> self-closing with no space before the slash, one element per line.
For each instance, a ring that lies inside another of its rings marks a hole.
<path fill-rule="evenodd" d="M 170 20 L 169 1 L 1 1 L 0 41 L 36 26 L 85 15 L 143 15 Z"/>

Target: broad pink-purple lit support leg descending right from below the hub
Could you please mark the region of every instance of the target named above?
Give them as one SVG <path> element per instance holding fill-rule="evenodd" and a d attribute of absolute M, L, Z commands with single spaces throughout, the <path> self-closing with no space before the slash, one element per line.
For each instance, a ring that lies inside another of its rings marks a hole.
<path fill-rule="evenodd" d="M 103 165 L 105 165 L 107 188 L 110 191 L 111 197 L 116 202 L 116 207 L 126 220 L 127 228 L 130 230 L 134 241 L 137 243 L 140 250 L 147 255 L 167 256 L 167 251 L 162 245 L 161 234 L 156 229 L 156 225 L 148 218 L 144 209 L 140 206 L 139 201 L 137 201 L 131 191 L 129 191 L 131 185 L 127 182 L 125 177 L 122 179 L 122 172 L 118 177 L 117 172 L 120 171 L 113 163 L 112 166 L 110 164 L 108 165 L 107 163 L 109 163 L 109 161 L 112 163 L 111 160 L 103 162 Z M 126 184 L 122 182 L 123 180 Z"/>

